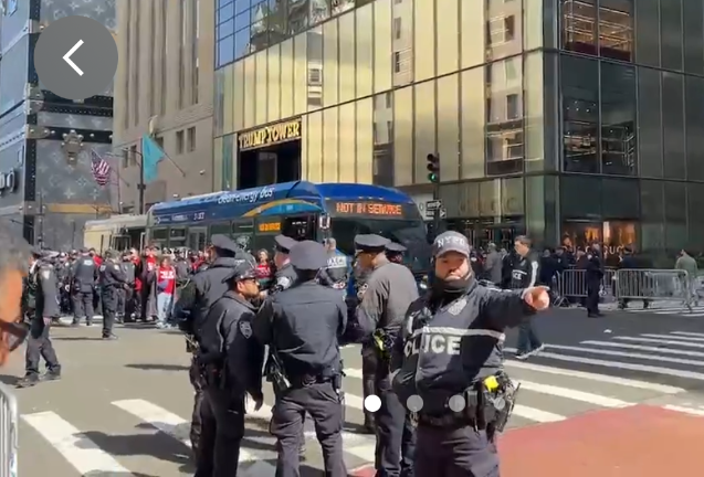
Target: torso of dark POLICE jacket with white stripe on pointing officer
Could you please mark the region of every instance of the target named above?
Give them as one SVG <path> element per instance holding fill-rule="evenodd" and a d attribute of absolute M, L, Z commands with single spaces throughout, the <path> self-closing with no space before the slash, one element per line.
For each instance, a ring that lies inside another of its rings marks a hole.
<path fill-rule="evenodd" d="M 441 307 L 430 320 L 422 318 L 430 314 L 423 299 L 417 304 L 406 319 L 403 365 L 393 390 L 401 402 L 418 394 L 424 410 L 440 412 L 450 398 L 472 385 L 482 368 L 501 364 L 506 336 L 481 327 L 481 304 L 471 292 Z"/>

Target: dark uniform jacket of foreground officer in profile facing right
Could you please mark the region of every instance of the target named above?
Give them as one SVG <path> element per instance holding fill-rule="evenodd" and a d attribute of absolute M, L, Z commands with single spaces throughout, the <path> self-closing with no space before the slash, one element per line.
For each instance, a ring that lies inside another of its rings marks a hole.
<path fill-rule="evenodd" d="M 265 349 L 252 330 L 255 316 L 256 309 L 251 303 L 234 292 L 227 292 L 203 320 L 200 346 L 206 362 L 224 368 L 229 389 L 259 396 Z"/>

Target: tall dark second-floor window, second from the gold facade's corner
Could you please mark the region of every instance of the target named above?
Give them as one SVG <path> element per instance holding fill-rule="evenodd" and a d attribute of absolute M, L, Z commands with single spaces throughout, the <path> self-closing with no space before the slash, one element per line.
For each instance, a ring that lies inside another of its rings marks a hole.
<path fill-rule="evenodd" d="M 637 170 L 635 68 L 601 63 L 601 171 L 634 176 Z"/>

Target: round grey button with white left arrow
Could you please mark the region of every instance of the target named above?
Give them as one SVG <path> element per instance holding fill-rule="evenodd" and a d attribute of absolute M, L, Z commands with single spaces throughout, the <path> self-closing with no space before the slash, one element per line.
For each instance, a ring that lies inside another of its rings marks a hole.
<path fill-rule="evenodd" d="M 117 45 L 108 29 L 87 17 L 65 17 L 45 28 L 34 49 L 42 85 L 67 99 L 104 93 L 117 71 Z"/>

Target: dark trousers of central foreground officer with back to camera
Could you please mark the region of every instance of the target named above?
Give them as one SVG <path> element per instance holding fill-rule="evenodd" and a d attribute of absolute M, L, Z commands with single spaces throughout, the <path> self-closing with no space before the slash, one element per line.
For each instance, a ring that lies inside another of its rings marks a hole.
<path fill-rule="evenodd" d="M 323 449 L 325 475 L 346 477 L 343 453 L 343 405 L 332 382 L 276 392 L 270 432 L 279 441 L 276 477 L 300 477 L 298 447 L 303 415 L 308 413 Z M 400 445 L 400 444 L 399 444 Z"/>

